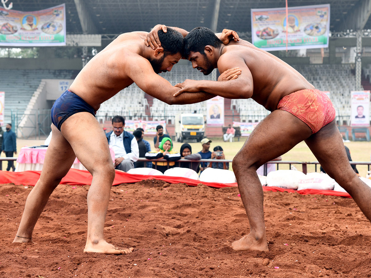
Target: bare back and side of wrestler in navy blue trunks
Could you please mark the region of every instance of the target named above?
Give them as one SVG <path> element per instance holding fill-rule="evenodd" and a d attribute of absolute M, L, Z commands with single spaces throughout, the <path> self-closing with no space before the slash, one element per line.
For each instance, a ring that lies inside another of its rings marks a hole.
<path fill-rule="evenodd" d="M 69 90 L 98 110 L 102 102 L 133 83 L 126 74 L 125 56 L 140 52 L 144 36 L 145 32 L 118 36 L 83 67 Z"/>

